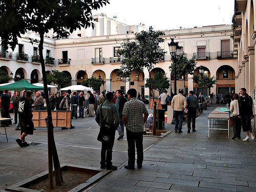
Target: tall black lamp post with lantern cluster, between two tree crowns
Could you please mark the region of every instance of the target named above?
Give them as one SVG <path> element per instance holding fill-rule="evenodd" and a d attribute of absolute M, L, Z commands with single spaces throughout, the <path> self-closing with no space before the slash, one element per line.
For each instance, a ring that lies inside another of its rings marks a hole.
<path fill-rule="evenodd" d="M 169 52 L 172 56 L 172 60 L 174 62 L 174 94 L 177 95 L 177 78 L 176 78 L 176 65 L 178 58 L 180 56 L 181 47 L 179 46 L 179 42 L 174 42 L 174 38 L 170 38 L 171 41 L 168 43 Z"/>

